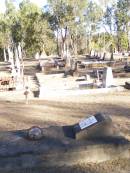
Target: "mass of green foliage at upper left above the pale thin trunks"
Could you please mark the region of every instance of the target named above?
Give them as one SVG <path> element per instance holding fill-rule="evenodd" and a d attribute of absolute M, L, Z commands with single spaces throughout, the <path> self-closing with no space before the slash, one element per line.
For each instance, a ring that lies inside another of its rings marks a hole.
<path fill-rule="evenodd" d="M 42 10 L 23 0 L 16 10 L 13 2 L 6 1 L 6 12 L 0 16 L 0 47 L 22 43 L 28 57 L 43 49 L 51 54 L 55 51 L 55 35 Z"/>

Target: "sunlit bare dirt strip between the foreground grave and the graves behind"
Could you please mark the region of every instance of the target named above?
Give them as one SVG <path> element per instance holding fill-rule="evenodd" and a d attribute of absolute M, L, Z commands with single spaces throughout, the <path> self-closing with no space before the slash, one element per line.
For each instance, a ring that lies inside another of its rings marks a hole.
<path fill-rule="evenodd" d="M 24 100 L 3 100 L 0 101 L 0 130 L 24 129 L 33 125 L 69 125 L 97 112 L 109 114 L 121 133 L 130 139 L 129 91 L 52 101 L 33 99 L 28 105 Z"/>

